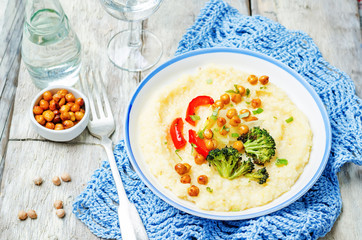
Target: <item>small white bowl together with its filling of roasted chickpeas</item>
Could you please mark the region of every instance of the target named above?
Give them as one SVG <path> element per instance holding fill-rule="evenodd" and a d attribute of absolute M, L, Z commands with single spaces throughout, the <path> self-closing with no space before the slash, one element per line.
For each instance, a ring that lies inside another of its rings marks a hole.
<path fill-rule="evenodd" d="M 29 110 L 35 130 L 44 138 L 66 142 L 80 135 L 89 121 L 87 97 L 75 88 L 51 86 L 39 92 Z"/>

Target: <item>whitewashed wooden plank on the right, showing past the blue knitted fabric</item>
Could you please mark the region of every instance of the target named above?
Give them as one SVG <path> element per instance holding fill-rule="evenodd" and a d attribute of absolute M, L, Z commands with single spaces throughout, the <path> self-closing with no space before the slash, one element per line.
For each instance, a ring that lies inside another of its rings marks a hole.
<path fill-rule="evenodd" d="M 355 0 L 251 1 L 252 15 L 263 15 L 288 29 L 313 38 L 323 57 L 346 72 L 362 97 L 362 50 L 358 8 Z M 362 166 L 346 164 L 338 174 L 343 209 L 332 231 L 323 239 L 361 239 Z M 348 226 L 348 230 L 346 228 Z"/>

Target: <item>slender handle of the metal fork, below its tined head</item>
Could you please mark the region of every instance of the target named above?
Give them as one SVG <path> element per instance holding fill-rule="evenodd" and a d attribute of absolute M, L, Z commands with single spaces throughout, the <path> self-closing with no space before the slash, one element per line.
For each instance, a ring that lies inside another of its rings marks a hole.
<path fill-rule="evenodd" d="M 147 240 L 147 232 L 141 220 L 139 213 L 133 203 L 131 203 L 124 190 L 121 176 L 117 168 L 116 160 L 113 155 L 112 141 L 109 138 L 103 137 L 101 144 L 106 150 L 109 165 L 113 175 L 114 182 L 119 198 L 118 220 L 121 228 L 122 239 L 124 240 Z"/>

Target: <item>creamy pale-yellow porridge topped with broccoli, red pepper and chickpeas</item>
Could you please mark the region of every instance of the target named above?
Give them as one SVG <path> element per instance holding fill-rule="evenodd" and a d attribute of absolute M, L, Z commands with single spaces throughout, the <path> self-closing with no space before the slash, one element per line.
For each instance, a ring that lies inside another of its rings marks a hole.
<path fill-rule="evenodd" d="M 306 116 L 268 76 L 207 66 L 155 92 L 139 146 L 161 185 L 200 209 L 240 211 L 287 192 L 308 163 Z"/>

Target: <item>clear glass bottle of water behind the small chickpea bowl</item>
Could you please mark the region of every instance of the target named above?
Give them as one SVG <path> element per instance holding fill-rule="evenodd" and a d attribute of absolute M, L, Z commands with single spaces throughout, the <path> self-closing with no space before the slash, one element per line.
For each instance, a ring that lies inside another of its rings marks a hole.
<path fill-rule="evenodd" d="M 27 1 L 21 53 L 38 88 L 78 81 L 81 45 L 58 0 Z"/>

